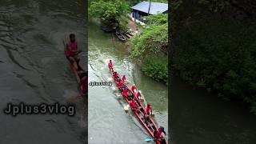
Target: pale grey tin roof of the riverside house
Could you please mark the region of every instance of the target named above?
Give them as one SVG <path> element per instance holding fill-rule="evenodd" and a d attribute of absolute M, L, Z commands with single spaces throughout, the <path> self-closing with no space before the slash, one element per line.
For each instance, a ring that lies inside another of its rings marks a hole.
<path fill-rule="evenodd" d="M 150 7 L 150 14 L 162 14 L 166 10 L 168 10 L 168 4 L 160 3 L 160 2 L 140 2 L 131 8 L 133 10 L 142 11 L 144 13 L 148 13 Z"/>

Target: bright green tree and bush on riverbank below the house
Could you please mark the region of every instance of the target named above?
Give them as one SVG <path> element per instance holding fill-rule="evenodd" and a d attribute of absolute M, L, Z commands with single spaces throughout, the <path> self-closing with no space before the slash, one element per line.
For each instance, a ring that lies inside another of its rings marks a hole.
<path fill-rule="evenodd" d="M 146 17 L 146 21 L 149 24 L 148 28 L 144 29 L 141 34 L 131 38 L 132 50 L 130 58 L 141 58 L 144 74 L 158 81 L 167 82 L 167 14 L 150 15 Z M 152 57 L 150 55 L 156 55 L 162 58 Z"/>

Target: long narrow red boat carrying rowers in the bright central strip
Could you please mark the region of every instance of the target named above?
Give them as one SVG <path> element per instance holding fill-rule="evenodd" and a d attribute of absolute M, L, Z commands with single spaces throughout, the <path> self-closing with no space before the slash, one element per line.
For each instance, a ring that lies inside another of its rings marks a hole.
<path fill-rule="evenodd" d="M 114 69 L 110 69 L 110 74 L 112 75 L 112 78 L 114 79 L 114 82 L 116 84 L 116 86 L 118 86 L 118 81 L 117 79 L 121 79 L 120 78 L 120 75 L 118 74 L 118 78 L 114 78 Z M 129 89 L 129 86 L 126 85 L 125 82 L 123 82 L 123 84 L 126 86 L 126 88 L 128 90 Z M 131 90 L 130 90 L 131 91 Z M 121 92 L 121 91 L 120 91 Z M 126 98 L 126 96 L 122 95 L 123 98 L 126 100 L 127 103 L 129 103 L 129 100 Z M 145 107 L 142 105 L 142 102 L 140 101 L 136 101 L 137 102 L 137 105 L 139 107 L 141 107 L 138 111 L 137 110 L 132 110 L 134 112 L 134 114 L 136 115 L 136 117 L 138 118 L 138 121 L 142 123 L 142 126 L 144 126 L 144 128 L 148 131 L 148 133 L 150 134 L 150 136 L 152 138 L 154 138 L 154 131 L 155 130 L 158 130 L 158 126 L 155 124 L 154 120 L 152 118 L 149 118 L 149 122 L 147 125 L 146 122 L 145 122 L 145 118 L 144 118 L 144 111 L 146 110 Z M 157 144 L 168 144 L 168 141 L 166 140 L 166 138 L 164 138 L 164 135 L 162 134 L 162 138 L 154 138 L 154 141 L 157 143 Z"/>

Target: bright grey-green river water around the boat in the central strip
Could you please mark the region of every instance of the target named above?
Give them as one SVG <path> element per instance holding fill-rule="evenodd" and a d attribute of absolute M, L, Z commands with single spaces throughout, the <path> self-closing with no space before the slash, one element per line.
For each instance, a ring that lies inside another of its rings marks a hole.
<path fill-rule="evenodd" d="M 154 82 L 138 69 L 128 58 L 128 49 L 113 34 L 100 30 L 99 23 L 92 20 L 88 34 L 89 82 L 109 82 L 111 75 L 107 61 L 112 59 L 114 70 L 125 74 L 130 84 L 142 90 L 146 101 L 153 106 L 154 119 L 158 126 L 168 130 L 168 93 L 167 86 Z M 147 143 L 148 134 L 134 114 L 126 113 L 126 102 L 117 97 L 114 86 L 89 86 L 88 131 L 90 143 Z M 154 142 L 153 142 L 154 143 Z"/>

